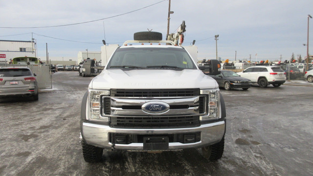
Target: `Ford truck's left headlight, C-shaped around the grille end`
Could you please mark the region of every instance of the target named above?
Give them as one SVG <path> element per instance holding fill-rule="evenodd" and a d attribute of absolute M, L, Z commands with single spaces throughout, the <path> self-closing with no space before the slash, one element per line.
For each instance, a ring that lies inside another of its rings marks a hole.
<path fill-rule="evenodd" d="M 109 122 L 110 117 L 103 117 L 101 116 L 101 96 L 110 95 L 110 90 L 95 90 L 95 89 L 89 89 L 88 90 L 88 113 L 87 113 L 87 119 L 88 120 L 95 120 L 95 121 L 105 121 Z"/>

